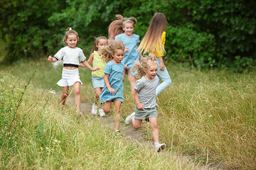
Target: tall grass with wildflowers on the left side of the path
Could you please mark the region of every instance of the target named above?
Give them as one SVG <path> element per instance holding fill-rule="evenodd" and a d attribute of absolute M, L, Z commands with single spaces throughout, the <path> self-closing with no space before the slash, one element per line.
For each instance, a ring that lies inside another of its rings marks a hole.
<path fill-rule="evenodd" d="M 117 137 L 97 117 L 61 108 L 55 91 L 14 78 L 0 71 L 1 169 L 196 169 Z"/>

